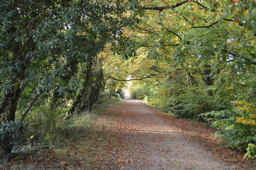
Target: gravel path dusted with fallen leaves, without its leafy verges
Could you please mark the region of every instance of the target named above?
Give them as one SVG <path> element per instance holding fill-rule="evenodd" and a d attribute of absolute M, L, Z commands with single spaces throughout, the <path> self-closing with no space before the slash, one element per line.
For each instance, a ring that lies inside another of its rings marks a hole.
<path fill-rule="evenodd" d="M 213 158 L 204 145 L 187 138 L 151 107 L 126 100 L 118 123 L 122 151 L 113 151 L 124 169 L 234 169 Z"/>

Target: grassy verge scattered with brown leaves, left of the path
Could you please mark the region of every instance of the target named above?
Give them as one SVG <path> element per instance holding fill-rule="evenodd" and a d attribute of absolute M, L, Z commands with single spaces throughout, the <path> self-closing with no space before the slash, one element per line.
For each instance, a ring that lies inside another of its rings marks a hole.
<path fill-rule="evenodd" d="M 102 169 L 110 166 L 116 145 L 113 117 L 120 114 L 123 101 L 104 105 L 97 111 L 75 115 L 63 129 L 58 146 L 36 154 L 13 158 L 0 169 Z"/>

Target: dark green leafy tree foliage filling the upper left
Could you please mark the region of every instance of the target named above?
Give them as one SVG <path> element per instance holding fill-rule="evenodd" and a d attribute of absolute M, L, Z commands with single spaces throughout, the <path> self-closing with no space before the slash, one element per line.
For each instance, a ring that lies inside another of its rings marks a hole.
<path fill-rule="evenodd" d="M 63 95 L 81 83 L 86 86 L 96 55 L 136 20 L 123 13 L 126 7 L 126 2 L 112 1 L 2 3 L 1 122 L 15 120 L 18 101 L 28 87 L 38 95 L 58 87 Z M 76 78 L 81 64 L 86 71 L 82 82 Z"/>

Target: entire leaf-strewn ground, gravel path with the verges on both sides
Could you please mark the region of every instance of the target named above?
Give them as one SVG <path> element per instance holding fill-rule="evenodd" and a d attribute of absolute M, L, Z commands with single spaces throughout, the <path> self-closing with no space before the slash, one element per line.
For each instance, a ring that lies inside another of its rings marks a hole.
<path fill-rule="evenodd" d="M 138 100 L 110 105 L 98 121 L 62 153 L 45 150 L 13 160 L 10 168 L 256 169 L 243 153 L 221 147 L 215 129 L 174 119 Z"/>

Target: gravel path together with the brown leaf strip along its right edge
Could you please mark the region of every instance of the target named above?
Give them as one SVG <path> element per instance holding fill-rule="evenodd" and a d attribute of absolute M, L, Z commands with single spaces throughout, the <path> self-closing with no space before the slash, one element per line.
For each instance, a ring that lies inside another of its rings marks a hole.
<path fill-rule="evenodd" d="M 138 100 L 126 100 L 116 119 L 124 169 L 248 169 L 254 161 L 223 148 L 213 128 L 175 119 Z M 117 157 L 117 159 L 119 159 Z"/>

